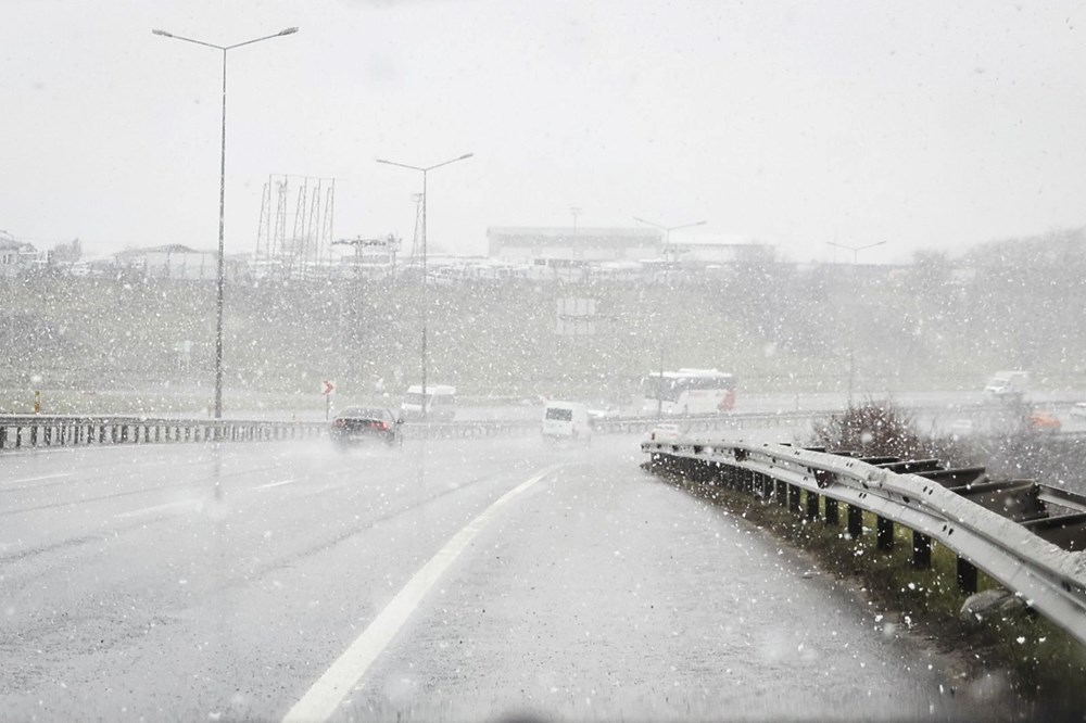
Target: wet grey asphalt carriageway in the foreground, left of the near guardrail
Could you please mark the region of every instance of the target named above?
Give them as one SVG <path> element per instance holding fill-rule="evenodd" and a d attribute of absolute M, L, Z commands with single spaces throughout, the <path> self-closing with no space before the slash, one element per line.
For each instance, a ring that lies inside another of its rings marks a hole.
<path fill-rule="evenodd" d="M 641 471 L 637 442 L 5 454 L 0 719 L 280 720 L 465 525 L 541 472 L 473 531 L 333 718 L 975 712 L 879 611 Z"/>

